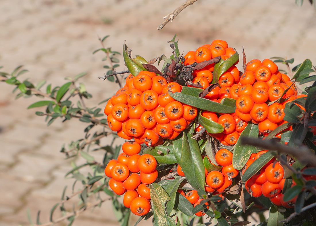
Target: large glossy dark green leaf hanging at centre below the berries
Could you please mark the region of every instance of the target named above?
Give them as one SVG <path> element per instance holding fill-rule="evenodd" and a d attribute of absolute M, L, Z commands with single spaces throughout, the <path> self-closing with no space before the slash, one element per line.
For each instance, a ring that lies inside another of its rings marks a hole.
<path fill-rule="evenodd" d="M 199 145 L 195 139 L 191 138 L 192 136 L 192 134 L 183 133 L 182 145 L 173 146 L 173 150 L 187 181 L 198 190 L 204 188 L 205 170 Z"/>

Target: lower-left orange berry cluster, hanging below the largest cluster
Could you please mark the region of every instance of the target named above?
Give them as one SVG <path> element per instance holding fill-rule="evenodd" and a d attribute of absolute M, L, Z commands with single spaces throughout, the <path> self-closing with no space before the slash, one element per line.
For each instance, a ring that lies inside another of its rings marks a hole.
<path fill-rule="evenodd" d="M 156 159 L 149 155 L 138 155 L 141 145 L 127 141 L 122 145 L 124 153 L 112 159 L 104 170 L 110 177 L 109 186 L 117 195 L 123 195 L 123 204 L 135 215 L 144 215 L 151 209 L 149 184 L 158 177 Z"/>

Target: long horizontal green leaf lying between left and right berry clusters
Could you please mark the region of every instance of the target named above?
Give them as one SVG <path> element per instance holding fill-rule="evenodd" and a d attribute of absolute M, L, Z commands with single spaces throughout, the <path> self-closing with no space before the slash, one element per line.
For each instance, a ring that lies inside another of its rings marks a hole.
<path fill-rule="evenodd" d="M 181 103 L 185 103 L 187 105 L 191 105 L 193 107 L 197 107 L 210 112 L 234 113 L 236 109 L 236 105 L 233 105 L 231 103 L 232 101 L 229 101 L 229 103 L 224 101 L 222 104 L 220 104 L 215 101 L 210 101 L 201 97 L 191 96 L 183 93 L 168 93 L 173 99 Z"/>

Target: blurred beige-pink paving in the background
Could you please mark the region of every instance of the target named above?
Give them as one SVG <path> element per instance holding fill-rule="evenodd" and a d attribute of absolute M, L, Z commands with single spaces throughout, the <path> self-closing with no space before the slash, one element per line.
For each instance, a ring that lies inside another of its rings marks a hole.
<path fill-rule="evenodd" d="M 118 89 L 97 79 L 105 72 L 102 53 L 92 54 L 100 48 L 98 36 L 110 35 L 105 45 L 119 52 L 126 40 L 133 55 L 148 60 L 171 55 L 166 41 L 178 34 L 184 52 L 223 39 L 239 53 L 244 46 L 248 60 L 280 56 L 295 58 L 294 65 L 305 58 L 316 62 L 316 11 L 308 1 L 298 7 L 294 0 L 200 0 L 156 31 L 163 16 L 182 2 L 1 0 L 0 65 L 6 72 L 24 65 L 29 72 L 23 78 L 34 83 L 46 79 L 52 85 L 86 71 L 82 81 L 94 96 L 92 106 Z M 57 120 L 46 127 L 44 119 L 34 114 L 36 110 L 26 110 L 35 98 L 15 101 L 11 91 L 10 85 L 0 83 L 0 225 L 28 225 L 27 209 L 33 221 L 41 210 L 44 223 L 64 185 L 71 187 L 73 182 L 64 178 L 71 167 L 59 153 L 60 147 L 81 138 L 86 125 Z M 88 224 L 118 225 L 110 203 L 74 223 Z"/>

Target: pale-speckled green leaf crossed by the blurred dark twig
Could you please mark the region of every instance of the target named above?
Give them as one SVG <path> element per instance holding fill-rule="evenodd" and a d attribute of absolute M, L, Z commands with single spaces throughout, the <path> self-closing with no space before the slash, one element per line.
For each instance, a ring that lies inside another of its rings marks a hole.
<path fill-rule="evenodd" d="M 246 128 L 241 132 L 240 137 L 258 138 L 259 130 L 258 125 L 249 123 Z M 233 152 L 233 167 L 235 169 L 242 169 L 248 161 L 250 155 L 256 151 L 256 147 L 252 145 L 241 145 L 240 137 L 236 142 Z"/>

